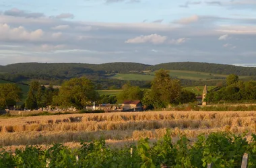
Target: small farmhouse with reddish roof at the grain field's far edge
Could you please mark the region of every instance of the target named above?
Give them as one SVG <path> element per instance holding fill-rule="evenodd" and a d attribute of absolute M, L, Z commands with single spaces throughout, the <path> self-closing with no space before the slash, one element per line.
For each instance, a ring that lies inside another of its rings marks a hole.
<path fill-rule="evenodd" d="M 125 100 L 122 103 L 123 112 L 142 112 L 143 106 L 139 100 Z"/>

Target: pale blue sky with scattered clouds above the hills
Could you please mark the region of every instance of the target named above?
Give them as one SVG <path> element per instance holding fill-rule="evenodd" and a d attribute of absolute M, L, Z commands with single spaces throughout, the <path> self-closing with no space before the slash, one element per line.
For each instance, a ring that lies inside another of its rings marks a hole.
<path fill-rule="evenodd" d="M 256 0 L 0 0 L 0 65 L 256 63 Z"/>

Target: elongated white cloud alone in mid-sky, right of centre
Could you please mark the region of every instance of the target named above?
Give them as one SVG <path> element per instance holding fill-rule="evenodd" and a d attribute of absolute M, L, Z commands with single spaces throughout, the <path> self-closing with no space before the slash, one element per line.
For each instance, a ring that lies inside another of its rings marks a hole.
<path fill-rule="evenodd" d="M 131 44 L 139 44 L 139 43 L 152 43 L 152 44 L 162 44 L 166 42 L 167 37 L 166 36 L 160 36 L 158 34 L 150 34 L 148 36 L 137 36 L 135 38 L 131 38 L 125 43 L 131 43 Z"/>

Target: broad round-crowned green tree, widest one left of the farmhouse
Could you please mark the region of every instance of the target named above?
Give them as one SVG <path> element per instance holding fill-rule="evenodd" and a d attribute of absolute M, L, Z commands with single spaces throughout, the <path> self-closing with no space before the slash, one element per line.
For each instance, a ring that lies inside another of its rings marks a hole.
<path fill-rule="evenodd" d="M 62 107 L 83 109 L 98 99 L 94 83 L 85 77 L 73 78 L 66 81 L 59 89 L 59 95 L 53 98 L 55 104 Z"/>

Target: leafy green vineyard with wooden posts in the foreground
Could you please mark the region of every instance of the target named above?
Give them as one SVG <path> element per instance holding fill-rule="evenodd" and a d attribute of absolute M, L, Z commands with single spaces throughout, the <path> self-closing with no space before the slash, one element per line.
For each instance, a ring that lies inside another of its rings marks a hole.
<path fill-rule="evenodd" d="M 154 144 L 148 138 L 122 148 L 106 145 L 104 140 L 83 142 L 78 149 L 54 144 L 47 149 L 26 146 L 0 152 L 0 167 L 241 167 L 243 154 L 249 153 L 249 167 L 256 166 L 256 135 L 250 142 L 245 134 L 236 136 L 225 132 L 198 136 L 191 142 L 186 136 L 176 143 L 170 134 Z"/>

